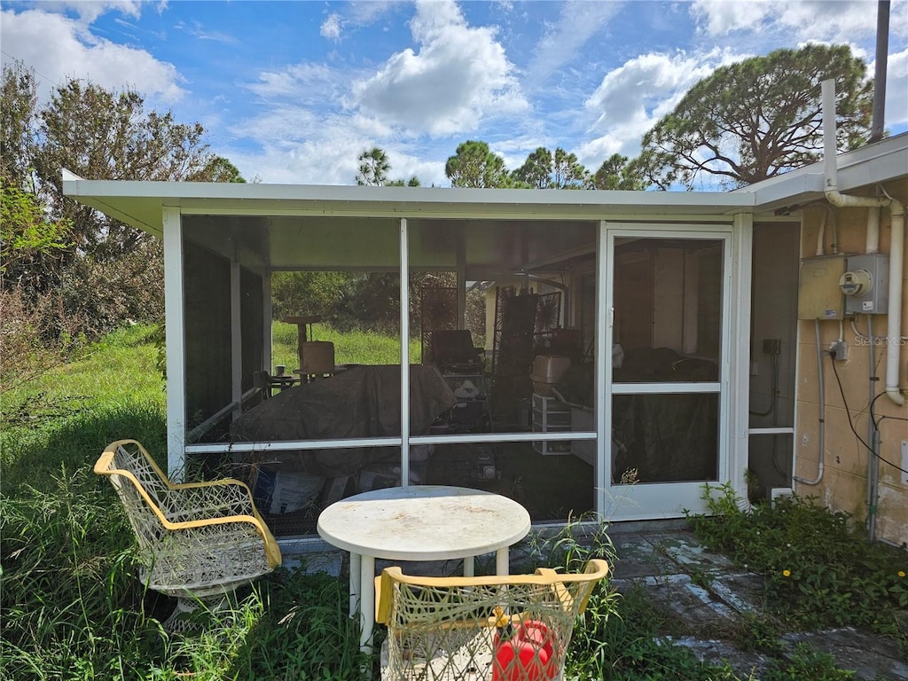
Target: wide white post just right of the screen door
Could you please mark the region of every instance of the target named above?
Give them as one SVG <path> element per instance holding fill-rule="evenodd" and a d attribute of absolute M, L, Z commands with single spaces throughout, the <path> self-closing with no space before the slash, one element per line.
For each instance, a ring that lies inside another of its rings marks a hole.
<path fill-rule="evenodd" d="M 728 424 L 728 433 L 720 443 L 725 441 L 730 448 L 725 459 L 728 461 L 728 479 L 738 498 L 747 498 L 747 485 L 745 482 L 745 469 L 749 465 L 750 439 L 750 306 L 751 306 L 751 277 L 753 276 L 754 253 L 754 216 L 751 213 L 737 213 L 733 224 L 732 238 L 730 240 L 732 257 L 725 262 L 731 262 L 731 277 L 726 277 L 730 285 L 725 287 L 727 297 L 735 304 L 725 304 L 724 311 L 731 315 L 727 342 L 728 357 L 727 376 L 723 380 L 722 390 L 727 396 L 727 409 L 729 419 L 724 419 Z M 739 386 L 732 390 L 732 386 Z M 725 405 L 719 406 L 719 413 L 725 410 Z M 721 423 L 721 421 L 720 421 Z M 721 448 L 720 448 L 721 451 Z M 721 467 L 720 467 L 721 469 Z"/>

